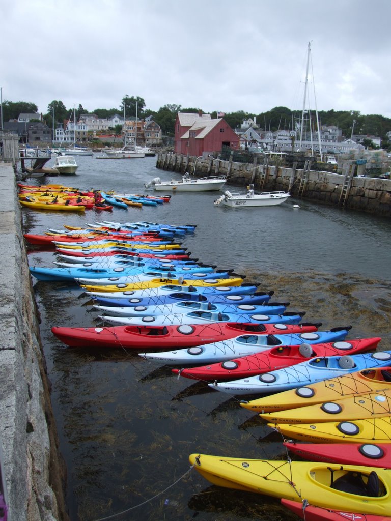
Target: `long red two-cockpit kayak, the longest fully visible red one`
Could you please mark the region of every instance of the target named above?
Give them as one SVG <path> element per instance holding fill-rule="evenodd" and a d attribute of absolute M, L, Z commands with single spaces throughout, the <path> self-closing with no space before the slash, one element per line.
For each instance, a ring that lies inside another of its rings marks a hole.
<path fill-rule="evenodd" d="M 167 349 L 191 348 L 234 338 L 243 333 L 284 334 L 316 331 L 319 324 L 251 324 L 212 322 L 178 326 L 52 327 L 52 332 L 71 347 Z"/>

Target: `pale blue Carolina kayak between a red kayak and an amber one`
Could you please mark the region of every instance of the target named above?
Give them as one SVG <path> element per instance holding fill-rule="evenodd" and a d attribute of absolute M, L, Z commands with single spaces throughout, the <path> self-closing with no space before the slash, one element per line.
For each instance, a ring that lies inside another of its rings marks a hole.
<path fill-rule="evenodd" d="M 315 382 L 355 373 L 363 369 L 389 366 L 391 351 L 371 354 L 321 356 L 293 366 L 269 371 L 258 376 L 228 382 L 209 383 L 217 391 L 229 394 L 263 394 L 287 391 Z"/>

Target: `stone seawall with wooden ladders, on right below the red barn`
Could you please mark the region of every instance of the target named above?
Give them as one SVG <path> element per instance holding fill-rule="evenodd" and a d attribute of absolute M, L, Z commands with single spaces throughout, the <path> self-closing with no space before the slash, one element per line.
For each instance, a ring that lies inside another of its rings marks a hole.
<path fill-rule="evenodd" d="M 371 214 L 391 217 L 391 180 L 352 177 L 331 172 L 305 171 L 268 166 L 266 163 L 235 163 L 180 154 L 158 154 L 156 167 L 178 173 L 196 172 L 196 177 L 226 175 L 230 184 L 255 190 L 284 190 L 292 196 L 344 206 Z"/>

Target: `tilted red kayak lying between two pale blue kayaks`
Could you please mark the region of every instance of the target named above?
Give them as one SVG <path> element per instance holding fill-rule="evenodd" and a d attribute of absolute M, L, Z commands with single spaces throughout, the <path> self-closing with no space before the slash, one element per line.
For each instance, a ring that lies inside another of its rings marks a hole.
<path fill-rule="evenodd" d="M 374 337 L 360 340 L 312 344 L 311 356 L 302 355 L 300 353 L 300 345 L 284 345 L 254 355 L 234 358 L 226 362 L 203 365 L 201 367 L 191 367 L 188 369 L 173 369 L 173 373 L 180 373 L 180 376 L 196 380 L 237 380 L 238 378 L 246 378 L 247 376 L 260 375 L 262 373 L 268 373 L 268 371 L 283 369 L 284 367 L 298 364 L 309 358 L 340 355 L 342 351 L 343 354 L 349 355 L 363 353 L 376 349 L 380 340 L 380 337 Z M 343 349 L 338 349 L 338 345 L 343 346 Z"/>

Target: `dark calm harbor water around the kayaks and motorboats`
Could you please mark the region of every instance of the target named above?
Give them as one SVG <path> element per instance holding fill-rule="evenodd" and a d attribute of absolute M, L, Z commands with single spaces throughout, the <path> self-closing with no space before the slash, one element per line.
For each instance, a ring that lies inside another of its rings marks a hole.
<path fill-rule="evenodd" d="M 153 193 L 144 189 L 144 182 L 157 176 L 179 177 L 157 170 L 154 157 L 76 159 L 77 176 L 48 178 L 48 182 L 82 189 Z M 238 190 L 229 184 L 226 189 Z M 370 280 L 371 299 L 376 300 L 373 288 L 381 292 L 377 293 L 381 298 L 374 313 L 380 319 L 389 318 L 389 219 L 302 200 L 235 210 L 214 207 L 217 196 L 218 192 L 178 192 L 172 194 L 170 203 L 157 207 L 114 209 L 112 213 L 88 210 L 84 215 L 23 209 L 23 223 L 25 231 L 35 233 L 103 219 L 196 224 L 194 234 L 180 239 L 193 257 L 247 274 L 261 282 L 263 289 L 273 289 L 276 301 L 286 300 L 285 291 L 290 289 L 292 310 L 302 305 L 307 292 L 308 296 L 311 293 L 319 307 L 306 308 L 306 320 L 319 320 L 323 313 L 322 329 L 352 323 L 344 307 L 350 302 L 347 298 L 337 304 L 332 299 L 327 301 L 329 295 L 326 300 L 320 295 L 321 291 L 335 292 L 336 281 L 347 288 L 355 281 L 354 290 L 359 293 L 357 281 Z M 29 254 L 30 265 L 51 266 L 53 260 L 53 252 L 35 250 Z M 321 286 L 316 286 L 321 288 L 317 295 L 313 294 L 315 278 L 321 281 Z M 294 279 L 295 290 L 289 286 Z M 251 417 L 235 398 L 213 391 L 204 382 L 178 379 L 170 368 L 138 357 L 137 349 L 133 353 L 67 348 L 53 337 L 50 328 L 90 327 L 96 324 L 98 313 L 92 311 L 91 302 L 76 286 L 33 282 L 53 384 L 60 449 L 68 468 L 67 500 L 72 521 L 106 519 L 122 511 L 127 512 L 113 519 L 289 518 L 275 500 L 219 490 L 210 487 L 196 471 L 188 472 L 188 455 L 192 452 L 284 458 L 277 433 L 258 417 Z M 379 311 L 380 301 L 383 307 Z M 374 324 L 373 330 L 368 327 L 359 331 L 381 336 Z"/>

